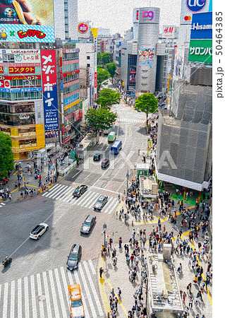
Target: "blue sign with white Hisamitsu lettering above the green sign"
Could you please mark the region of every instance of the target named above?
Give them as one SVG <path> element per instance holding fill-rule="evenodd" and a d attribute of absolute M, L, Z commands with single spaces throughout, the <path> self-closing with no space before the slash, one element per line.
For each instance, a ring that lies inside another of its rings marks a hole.
<path fill-rule="evenodd" d="M 193 13 L 190 39 L 212 40 L 212 12 Z"/>

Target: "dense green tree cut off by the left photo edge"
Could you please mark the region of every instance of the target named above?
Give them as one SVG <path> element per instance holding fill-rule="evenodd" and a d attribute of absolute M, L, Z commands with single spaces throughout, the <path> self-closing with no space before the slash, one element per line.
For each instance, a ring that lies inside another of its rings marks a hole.
<path fill-rule="evenodd" d="M 0 131 L 0 179 L 7 176 L 8 170 L 13 170 L 13 151 L 10 136 Z"/>

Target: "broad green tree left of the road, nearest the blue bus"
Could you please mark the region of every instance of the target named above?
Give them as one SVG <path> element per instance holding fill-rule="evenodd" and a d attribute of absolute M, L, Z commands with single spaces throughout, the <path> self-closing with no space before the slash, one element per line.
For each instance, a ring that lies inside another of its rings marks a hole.
<path fill-rule="evenodd" d="M 87 119 L 87 124 L 90 127 L 95 128 L 96 136 L 97 132 L 102 129 L 109 129 L 112 124 L 116 121 L 117 114 L 110 112 L 102 107 L 94 110 L 89 108 L 85 114 L 85 119 Z"/>

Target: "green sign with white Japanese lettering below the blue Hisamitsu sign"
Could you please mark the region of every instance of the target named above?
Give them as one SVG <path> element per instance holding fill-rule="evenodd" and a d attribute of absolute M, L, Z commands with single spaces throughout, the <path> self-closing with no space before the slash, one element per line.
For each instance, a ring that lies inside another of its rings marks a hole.
<path fill-rule="evenodd" d="M 212 64 L 212 40 L 190 40 L 188 61 Z"/>

